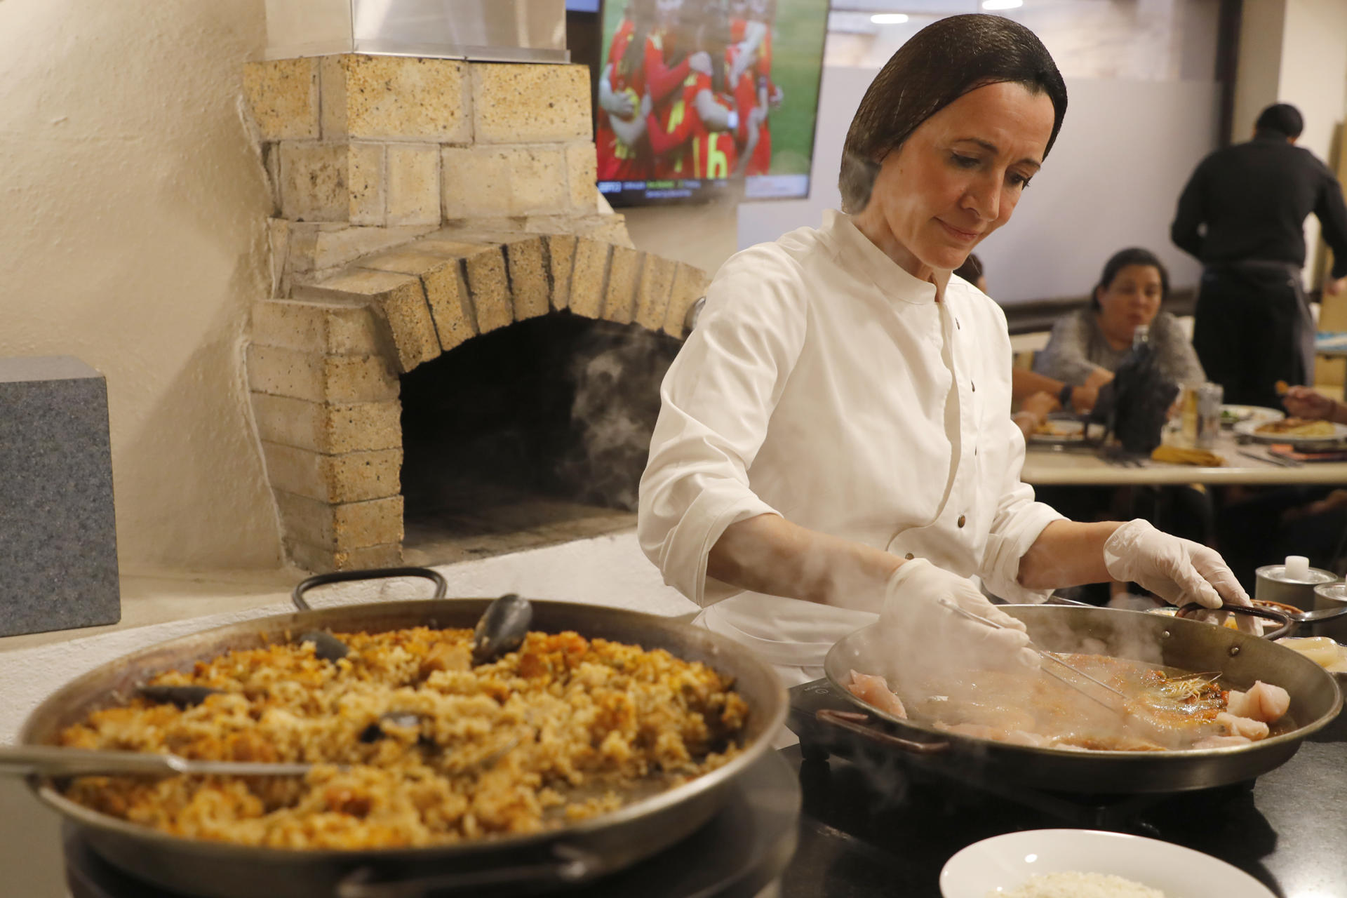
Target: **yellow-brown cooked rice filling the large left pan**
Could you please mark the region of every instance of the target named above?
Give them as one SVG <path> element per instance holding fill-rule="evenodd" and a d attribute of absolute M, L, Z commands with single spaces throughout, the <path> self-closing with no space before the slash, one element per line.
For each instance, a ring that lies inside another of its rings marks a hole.
<path fill-rule="evenodd" d="M 82 777 L 66 796 L 194 839 L 383 848 L 531 833 L 723 765 L 748 704 L 663 649 L 529 633 L 473 665 L 471 630 L 412 627 L 234 650 L 152 685 L 221 689 L 178 708 L 136 697 L 62 731 L 78 749 L 298 761 L 304 777 Z"/>

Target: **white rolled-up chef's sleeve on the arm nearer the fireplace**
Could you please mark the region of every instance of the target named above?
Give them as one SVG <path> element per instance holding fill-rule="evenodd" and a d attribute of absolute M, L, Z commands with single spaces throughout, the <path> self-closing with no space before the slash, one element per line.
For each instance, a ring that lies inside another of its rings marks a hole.
<path fill-rule="evenodd" d="M 702 606 L 740 591 L 706 575 L 725 529 L 777 513 L 748 470 L 804 345 L 793 265 L 770 245 L 730 258 L 660 386 L 636 532 L 664 582 Z"/>

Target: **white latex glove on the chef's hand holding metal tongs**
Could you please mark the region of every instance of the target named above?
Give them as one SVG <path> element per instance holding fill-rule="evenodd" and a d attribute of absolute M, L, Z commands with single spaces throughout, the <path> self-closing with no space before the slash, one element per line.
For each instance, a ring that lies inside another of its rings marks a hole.
<path fill-rule="evenodd" d="M 970 621 L 940 599 L 1008 629 Z M 905 561 L 889 578 L 880 626 L 893 645 L 894 660 L 911 676 L 1039 666 L 1024 623 L 991 605 L 973 580 L 925 559 Z"/>

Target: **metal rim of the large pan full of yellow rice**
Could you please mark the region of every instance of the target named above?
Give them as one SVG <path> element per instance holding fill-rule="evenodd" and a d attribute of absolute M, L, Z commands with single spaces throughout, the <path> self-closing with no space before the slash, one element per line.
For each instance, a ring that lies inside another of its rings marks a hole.
<path fill-rule="evenodd" d="M 277 614 L 264 618 L 253 618 L 242 623 L 230 623 L 221 627 L 213 627 L 209 630 L 202 630 L 198 633 L 187 634 L 166 642 L 159 642 L 151 646 L 145 646 L 133 653 L 123 656 L 112 662 L 98 665 L 93 670 L 89 670 L 66 685 L 57 689 L 54 693 L 47 696 L 24 720 L 24 724 L 19 732 L 20 745 L 39 745 L 36 742 L 35 730 L 44 715 L 53 714 L 53 708 L 61 707 L 70 703 L 75 697 L 85 697 L 88 693 L 101 681 L 106 680 L 109 670 L 123 665 L 135 666 L 137 661 L 152 658 L 155 656 L 171 652 L 175 648 L 187 646 L 193 644 L 209 645 L 211 641 L 224 640 L 228 635 L 241 635 L 242 633 L 252 631 L 259 634 L 259 645 L 261 635 L 265 633 L 279 634 L 284 631 L 300 633 L 304 629 L 311 629 L 314 626 L 326 627 L 350 627 L 357 629 L 358 625 L 356 619 L 360 618 L 376 618 L 387 617 L 396 619 L 399 617 L 418 617 L 420 618 L 416 623 L 396 623 L 396 626 L 383 627 L 397 629 L 400 626 L 466 626 L 470 627 L 475 621 L 475 617 L 485 609 L 490 602 L 490 598 L 457 598 L 457 599 L 412 599 L 401 602 L 377 602 L 377 603 L 361 603 L 361 605 L 348 605 L 339 607 L 330 607 L 315 611 L 300 611 L 291 614 Z M 585 605 L 578 602 L 554 602 L 554 600 L 532 600 L 539 617 L 543 617 L 543 622 L 535 622 L 531 630 L 555 630 L 548 627 L 546 623 L 546 617 L 548 615 L 577 615 L 577 617 L 594 617 L 594 625 L 587 633 L 581 633 L 585 638 L 616 638 L 605 635 L 602 630 L 614 629 L 622 623 L 637 626 L 637 627 L 657 627 L 660 630 L 668 630 L 675 633 L 687 633 L 692 640 L 710 645 L 715 654 L 745 658 L 748 653 L 742 652 L 737 642 L 733 642 L 727 637 L 722 637 L 710 630 L 703 630 L 700 627 L 692 627 L 688 623 L 679 621 L 660 618 L 659 615 L 644 614 L 640 611 L 632 611 L 626 609 L 614 609 L 609 606 Z M 455 621 L 445 621 L 446 615 L 453 615 Z M 606 626 L 605 626 L 606 625 Z M 381 631 L 376 625 L 366 625 L 369 631 Z M 221 646 L 217 652 L 224 653 L 230 648 L 240 646 Z M 676 652 L 671 652 L 676 654 Z M 710 660 L 702 660 L 707 666 L 715 668 L 715 664 Z M 742 664 L 742 661 L 740 661 Z M 121 836 L 136 839 L 141 843 L 158 844 L 166 850 L 171 850 L 176 854 L 198 854 L 198 855 L 211 855 L 228 858 L 237 855 L 240 860 L 247 860 L 248 863 L 294 863 L 295 860 L 303 859 L 304 862 L 315 863 L 380 863 L 385 860 L 450 860 L 455 856 L 463 858 L 485 858 L 496 854 L 517 854 L 529 852 L 533 850 L 543 850 L 550 845 L 564 843 L 570 839 L 581 840 L 586 836 L 595 836 L 598 833 L 621 829 L 625 824 L 644 819 L 647 816 L 659 815 L 661 812 L 671 812 L 678 805 L 684 802 L 694 802 L 698 797 L 704 797 L 715 793 L 731 782 L 740 773 L 746 770 L 754 762 L 757 762 L 766 751 L 770 750 L 772 734 L 781 728 L 787 715 L 787 695 L 785 688 L 776 680 L 775 672 L 772 669 L 753 660 L 753 664 L 766 670 L 775 685 L 776 695 L 772 701 L 764 703 L 764 707 L 752 707 L 753 714 L 762 714 L 764 710 L 768 711 L 766 719 L 753 723 L 756 734 L 748 740 L 742 751 L 726 762 L 723 766 L 717 767 L 709 773 L 695 777 L 684 784 L 667 789 L 659 794 L 649 796 L 647 798 L 640 798 L 630 804 L 622 805 L 617 810 L 597 815 L 586 820 L 566 824 L 560 828 L 547 829 L 536 833 L 525 833 L 516 836 L 501 836 L 501 837 L 488 837 L 488 839 L 473 839 L 458 843 L 436 843 L 431 845 L 404 845 L 404 847 L 389 847 L 389 848 L 358 848 L 358 850 L 337 850 L 337 848 L 275 848 L 267 845 L 248 845 L 229 841 L 216 841 L 206 839 L 194 839 L 189 836 L 179 836 L 159 829 L 154 829 L 147 825 L 131 823 L 120 817 L 113 817 L 110 815 L 93 810 L 78 802 L 66 798 L 54 786 L 50 780 L 43 780 L 38 777 L 30 777 L 28 785 L 35 792 L 38 798 L 65 815 L 66 817 L 74 820 L 78 825 L 88 825 L 96 829 L 101 829 L 109 833 L 117 833 Z M 144 676 L 152 676 L 154 673 L 171 669 L 168 666 L 160 670 L 150 672 L 145 670 Z M 723 670 L 717 669 L 718 673 Z M 104 703 L 98 707 L 109 707 L 112 703 Z M 93 705 L 85 705 L 92 708 Z"/>

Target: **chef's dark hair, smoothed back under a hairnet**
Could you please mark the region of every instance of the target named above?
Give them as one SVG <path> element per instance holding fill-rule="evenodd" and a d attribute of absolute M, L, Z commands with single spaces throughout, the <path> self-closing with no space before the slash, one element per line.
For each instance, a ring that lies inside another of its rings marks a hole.
<path fill-rule="evenodd" d="M 1052 100 L 1048 156 L 1067 113 L 1067 85 L 1039 38 L 1002 16 L 970 13 L 940 19 L 912 36 L 874 77 L 851 118 L 842 147 L 842 211 L 870 202 L 884 158 L 951 102 L 986 85 L 1013 82 Z"/>

